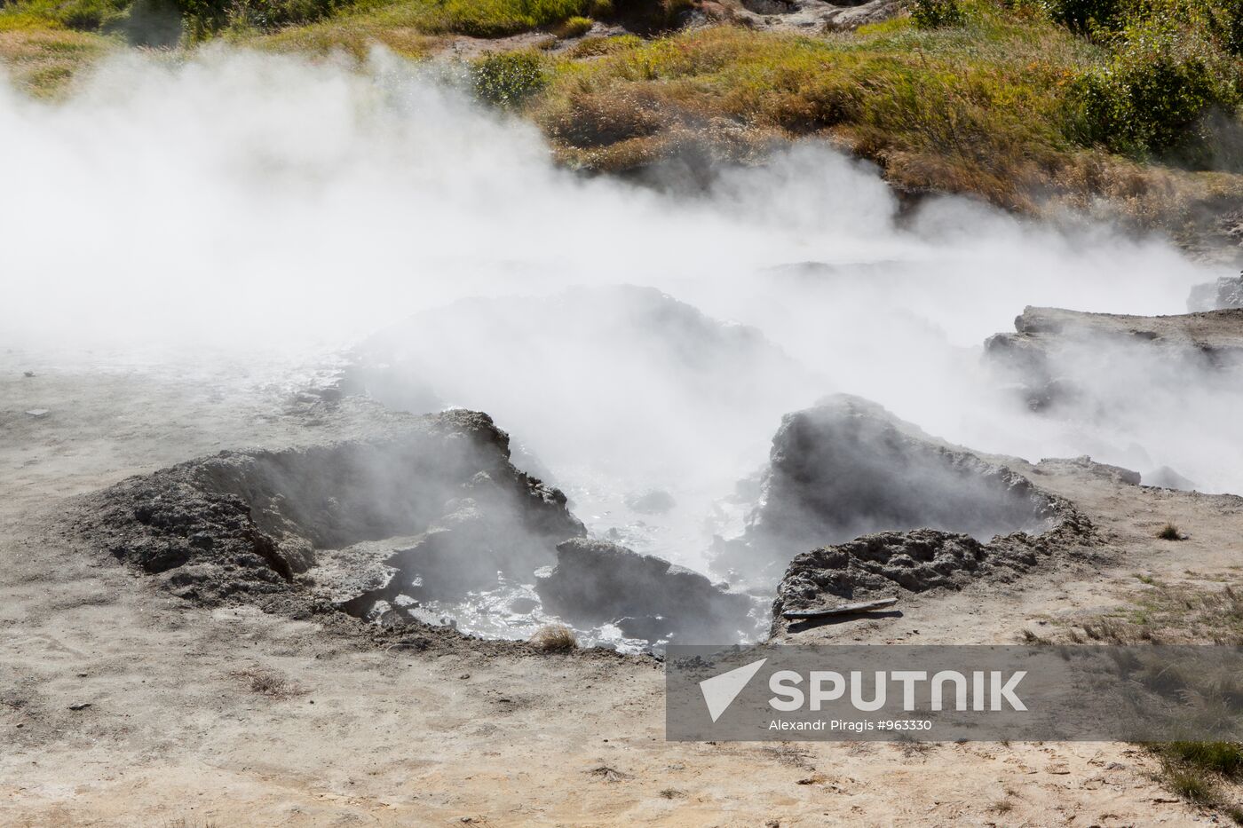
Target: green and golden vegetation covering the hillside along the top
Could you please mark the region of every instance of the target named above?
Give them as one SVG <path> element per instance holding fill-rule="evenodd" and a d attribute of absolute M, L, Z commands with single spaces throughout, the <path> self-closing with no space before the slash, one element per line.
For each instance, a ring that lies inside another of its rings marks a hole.
<path fill-rule="evenodd" d="M 359 57 L 379 42 L 421 58 L 452 36 L 539 30 L 576 40 L 498 47 L 469 80 L 539 123 L 574 167 L 758 158 L 819 136 L 900 188 L 1023 211 L 1108 201 L 1141 225 L 1193 232 L 1202 205 L 1243 196 L 1243 0 L 910 0 L 909 14 L 856 32 L 670 31 L 691 2 L 10 0 L 0 32 L 158 45 L 224 35 Z M 582 37 L 592 20 L 634 34 Z M 40 83 L 71 65 L 50 65 Z"/>

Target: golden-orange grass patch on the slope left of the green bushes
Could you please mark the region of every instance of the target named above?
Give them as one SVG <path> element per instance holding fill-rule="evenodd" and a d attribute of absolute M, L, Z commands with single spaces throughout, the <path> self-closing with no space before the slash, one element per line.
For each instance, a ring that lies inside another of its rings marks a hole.
<path fill-rule="evenodd" d="M 909 19 L 827 37 L 717 27 L 562 61 L 533 117 L 585 167 L 643 164 L 687 133 L 828 134 L 899 184 L 1021 206 L 1073 148 L 1063 93 L 1101 57 L 1060 26 L 988 6 L 948 29 Z"/>

